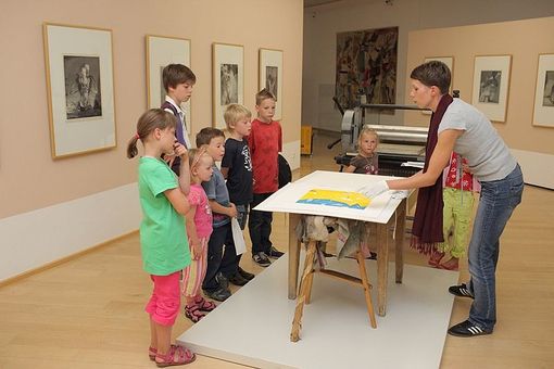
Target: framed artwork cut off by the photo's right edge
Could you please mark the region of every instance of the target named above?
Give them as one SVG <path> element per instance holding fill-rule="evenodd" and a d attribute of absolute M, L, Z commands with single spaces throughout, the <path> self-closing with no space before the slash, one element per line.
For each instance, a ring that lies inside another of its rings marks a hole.
<path fill-rule="evenodd" d="M 554 127 L 554 54 L 539 55 L 533 126 Z"/>

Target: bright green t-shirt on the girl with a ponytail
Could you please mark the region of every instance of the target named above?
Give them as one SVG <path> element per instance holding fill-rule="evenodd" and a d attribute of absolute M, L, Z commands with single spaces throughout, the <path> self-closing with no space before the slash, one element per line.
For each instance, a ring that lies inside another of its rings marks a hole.
<path fill-rule="evenodd" d="M 139 161 L 139 196 L 142 207 L 140 249 L 142 266 L 154 276 L 167 276 L 190 264 L 185 218 L 164 191 L 178 187 L 177 178 L 161 158 Z"/>

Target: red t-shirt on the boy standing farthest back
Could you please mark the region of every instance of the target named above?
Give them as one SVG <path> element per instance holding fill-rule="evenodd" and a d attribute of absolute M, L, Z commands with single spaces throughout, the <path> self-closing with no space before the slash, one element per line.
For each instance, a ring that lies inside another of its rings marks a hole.
<path fill-rule="evenodd" d="M 252 122 L 252 130 L 248 137 L 252 169 L 254 177 L 254 193 L 276 192 L 279 189 L 279 168 L 277 156 L 282 151 L 282 131 L 279 122 Z"/>

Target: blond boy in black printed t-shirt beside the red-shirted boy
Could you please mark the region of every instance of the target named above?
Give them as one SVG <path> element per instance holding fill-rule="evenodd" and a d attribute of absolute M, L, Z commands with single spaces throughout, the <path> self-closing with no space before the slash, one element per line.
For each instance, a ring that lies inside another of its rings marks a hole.
<path fill-rule="evenodd" d="M 224 113 L 230 137 L 225 141 L 222 175 L 227 180 L 229 199 L 237 207 L 237 220 L 242 230 L 247 225 L 248 206 L 252 202 L 252 161 L 245 139 L 252 128 L 251 117 L 252 113 L 240 104 L 228 105 Z M 240 256 L 237 255 L 237 265 L 240 264 Z M 237 273 L 229 278 L 229 282 L 244 285 L 253 278 L 254 275 L 238 266 Z"/>

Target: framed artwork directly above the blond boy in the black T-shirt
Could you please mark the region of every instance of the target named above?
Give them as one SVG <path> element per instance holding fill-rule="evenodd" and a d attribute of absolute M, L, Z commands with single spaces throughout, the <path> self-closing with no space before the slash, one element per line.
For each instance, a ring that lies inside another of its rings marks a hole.
<path fill-rule="evenodd" d="M 212 43 L 213 126 L 225 129 L 223 113 L 228 104 L 244 103 L 244 48 Z"/>

